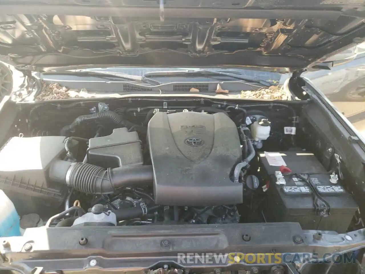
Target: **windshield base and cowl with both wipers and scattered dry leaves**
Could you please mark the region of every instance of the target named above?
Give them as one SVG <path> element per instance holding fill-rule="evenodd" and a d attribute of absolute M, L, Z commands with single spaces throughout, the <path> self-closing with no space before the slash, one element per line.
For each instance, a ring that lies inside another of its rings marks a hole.
<path fill-rule="evenodd" d="M 36 100 L 120 96 L 153 92 L 225 94 L 235 98 L 287 100 L 282 74 L 242 68 L 82 67 L 34 73 Z M 182 84 L 178 86 L 179 84 Z M 30 98 L 31 99 L 31 96 Z"/>

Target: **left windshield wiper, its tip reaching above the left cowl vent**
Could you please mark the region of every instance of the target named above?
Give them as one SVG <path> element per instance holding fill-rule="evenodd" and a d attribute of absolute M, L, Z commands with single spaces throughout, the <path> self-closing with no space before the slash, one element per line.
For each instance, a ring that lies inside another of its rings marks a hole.
<path fill-rule="evenodd" d="M 89 71 L 87 69 L 78 69 L 77 71 L 45 72 L 45 73 L 43 73 L 43 75 L 73 75 L 73 76 L 81 76 L 81 77 L 95 76 L 95 77 L 102 78 L 102 79 L 110 79 L 110 78 L 114 77 L 114 78 L 130 80 L 130 81 L 147 83 L 147 84 L 151 84 L 151 85 L 161 85 L 161 82 L 146 78 L 144 76 L 130 75 L 130 74 L 125 74 L 125 73 L 110 72 L 110 71 Z"/>

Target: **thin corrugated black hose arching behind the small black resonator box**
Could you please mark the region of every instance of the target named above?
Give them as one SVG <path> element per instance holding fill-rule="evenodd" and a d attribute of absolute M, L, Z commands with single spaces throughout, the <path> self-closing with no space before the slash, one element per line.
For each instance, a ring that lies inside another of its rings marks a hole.
<path fill-rule="evenodd" d="M 101 111 L 98 113 L 81 115 L 77 117 L 70 125 L 64 126 L 61 129 L 61 136 L 68 136 L 70 132 L 74 132 L 75 128 L 79 126 L 81 123 L 87 121 L 98 121 L 98 120 L 109 120 L 113 122 L 115 125 L 125 126 L 126 123 L 120 118 L 120 116 L 110 110 Z"/>

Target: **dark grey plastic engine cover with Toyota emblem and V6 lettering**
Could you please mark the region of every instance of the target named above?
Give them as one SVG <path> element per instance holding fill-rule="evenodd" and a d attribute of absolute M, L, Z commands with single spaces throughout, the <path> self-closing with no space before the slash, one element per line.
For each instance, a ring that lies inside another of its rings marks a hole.
<path fill-rule="evenodd" d="M 242 203 L 242 184 L 230 180 L 242 160 L 234 122 L 224 113 L 156 113 L 148 124 L 154 198 L 160 205 Z"/>

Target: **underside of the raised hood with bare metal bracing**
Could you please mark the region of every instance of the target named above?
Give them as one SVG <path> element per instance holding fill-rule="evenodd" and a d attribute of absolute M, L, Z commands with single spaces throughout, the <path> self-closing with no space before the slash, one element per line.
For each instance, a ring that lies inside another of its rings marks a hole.
<path fill-rule="evenodd" d="M 364 0 L 9 0 L 0 61 L 305 68 L 365 41 Z"/>

